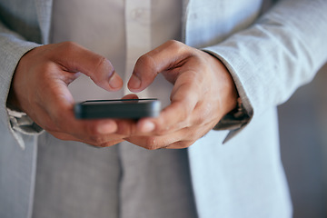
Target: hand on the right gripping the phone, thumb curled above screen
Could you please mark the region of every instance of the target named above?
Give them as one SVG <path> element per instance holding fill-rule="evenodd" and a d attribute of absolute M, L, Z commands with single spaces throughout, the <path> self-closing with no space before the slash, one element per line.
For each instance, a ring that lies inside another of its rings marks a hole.
<path fill-rule="evenodd" d="M 151 150 L 188 147 L 236 106 L 231 74 L 211 54 L 169 41 L 139 58 L 128 87 L 140 92 L 157 74 L 174 84 L 171 104 L 159 117 L 138 122 L 138 134 L 126 138 L 133 144 Z"/>

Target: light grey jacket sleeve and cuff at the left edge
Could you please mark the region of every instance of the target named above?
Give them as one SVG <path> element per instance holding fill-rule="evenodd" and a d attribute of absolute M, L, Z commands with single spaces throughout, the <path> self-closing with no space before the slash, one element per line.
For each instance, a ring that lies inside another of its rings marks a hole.
<path fill-rule="evenodd" d="M 7 29 L 0 21 L 0 122 L 7 126 L 22 148 L 25 148 L 22 134 L 40 134 L 41 128 L 26 114 L 8 109 L 6 102 L 16 65 L 25 53 L 37 46 Z"/>

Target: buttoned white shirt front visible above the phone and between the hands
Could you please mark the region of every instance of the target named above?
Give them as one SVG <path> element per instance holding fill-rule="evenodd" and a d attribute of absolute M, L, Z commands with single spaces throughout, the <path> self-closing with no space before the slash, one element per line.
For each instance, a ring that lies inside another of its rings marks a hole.
<path fill-rule="evenodd" d="M 181 38 L 181 14 L 182 1 L 175 0 L 54 1 L 52 42 L 74 41 L 104 55 L 124 80 L 121 91 L 108 93 L 81 76 L 70 85 L 75 101 L 129 94 L 126 84 L 138 57 L 169 39 Z M 168 104 L 172 85 L 159 76 L 153 87 L 138 95 Z"/>

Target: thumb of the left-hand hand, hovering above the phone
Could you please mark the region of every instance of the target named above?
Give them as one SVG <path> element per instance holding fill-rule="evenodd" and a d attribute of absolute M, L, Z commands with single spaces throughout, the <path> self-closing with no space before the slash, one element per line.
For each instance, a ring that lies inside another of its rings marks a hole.
<path fill-rule="evenodd" d="M 81 72 L 90 76 L 95 84 L 107 91 L 116 91 L 122 88 L 123 80 L 115 73 L 109 60 L 99 54 L 85 49 L 80 45 L 65 42 L 58 45 L 55 59 L 69 72 Z"/>

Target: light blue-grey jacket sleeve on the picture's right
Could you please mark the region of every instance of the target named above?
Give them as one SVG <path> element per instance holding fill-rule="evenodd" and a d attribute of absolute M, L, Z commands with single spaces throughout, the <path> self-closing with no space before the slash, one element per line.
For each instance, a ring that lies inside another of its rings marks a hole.
<path fill-rule="evenodd" d="M 228 138 L 312 80 L 327 59 L 326 12 L 324 0 L 280 1 L 249 28 L 203 49 L 225 64 L 249 114 L 223 118 L 225 124 L 240 124 Z"/>

